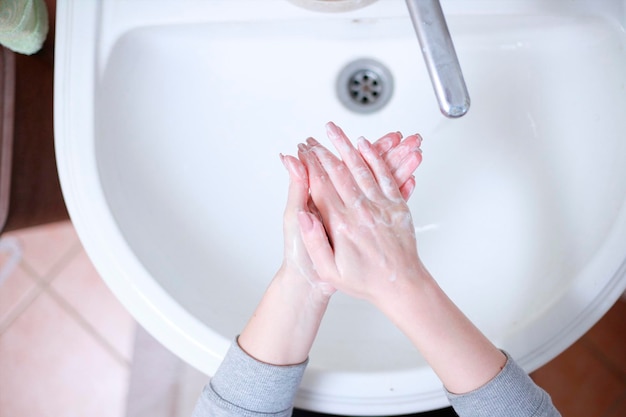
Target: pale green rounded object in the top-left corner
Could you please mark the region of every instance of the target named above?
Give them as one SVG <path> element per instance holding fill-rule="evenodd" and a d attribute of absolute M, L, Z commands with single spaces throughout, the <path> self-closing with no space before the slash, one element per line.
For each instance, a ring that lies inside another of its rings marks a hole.
<path fill-rule="evenodd" d="M 31 55 L 48 36 L 48 9 L 43 0 L 0 0 L 0 44 Z"/>

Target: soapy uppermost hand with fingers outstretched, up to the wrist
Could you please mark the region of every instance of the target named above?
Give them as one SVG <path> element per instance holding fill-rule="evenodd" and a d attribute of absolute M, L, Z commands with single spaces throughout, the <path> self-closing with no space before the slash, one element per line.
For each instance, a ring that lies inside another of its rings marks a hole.
<path fill-rule="evenodd" d="M 305 246 L 321 281 L 377 304 L 425 273 L 399 171 L 389 169 L 367 140 L 361 138 L 357 150 L 337 126 L 327 129 L 343 161 L 314 139 L 299 146 L 323 221 L 299 212 Z M 421 154 L 413 155 L 419 165 Z"/>

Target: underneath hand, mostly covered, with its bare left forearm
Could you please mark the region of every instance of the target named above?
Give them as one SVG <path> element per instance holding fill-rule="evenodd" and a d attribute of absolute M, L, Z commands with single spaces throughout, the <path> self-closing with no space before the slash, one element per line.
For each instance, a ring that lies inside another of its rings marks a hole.
<path fill-rule="evenodd" d="M 403 184 L 408 198 L 413 170 L 419 165 L 421 156 L 417 155 L 414 146 L 417 137 L 401 139 L 398 133 L 385 135 L 377 141 L 376 153 L 392 164 L 394 178 Z M 293 156 L 281 155 L 281 160 L 289 172 L 283 264 L 238 341 L 241 348 L 257 360 L 289 365 L 307 358 L 335 287 L 320 279 L 300 233 L 299 213 L 311 216 L 317 213 L 310 200 L 307 171 Z"/>

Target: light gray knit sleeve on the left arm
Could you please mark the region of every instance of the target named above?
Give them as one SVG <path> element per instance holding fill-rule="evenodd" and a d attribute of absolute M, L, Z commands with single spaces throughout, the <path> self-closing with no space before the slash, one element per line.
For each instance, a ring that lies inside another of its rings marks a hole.
<path fill-rule="evenodd" d="M 306 364 L 259 362 L 235 341 L 204 387 L 193 417 L 289 417 Z"/>

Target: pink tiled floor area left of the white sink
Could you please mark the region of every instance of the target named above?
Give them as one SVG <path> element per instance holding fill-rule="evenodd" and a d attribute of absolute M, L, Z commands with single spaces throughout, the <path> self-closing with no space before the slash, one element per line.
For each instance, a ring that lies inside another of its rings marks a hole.
<path fill-rule="evenodd" d="M 123 416 L 135 322 L 72 226 L 2 240 L 17 245 L 2 251 L 0 269 L 16 249 L 21 260 L 0 283 L 0 416 Z"/>

